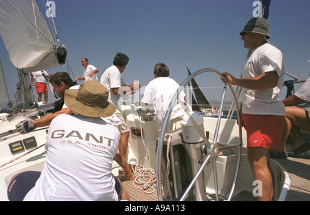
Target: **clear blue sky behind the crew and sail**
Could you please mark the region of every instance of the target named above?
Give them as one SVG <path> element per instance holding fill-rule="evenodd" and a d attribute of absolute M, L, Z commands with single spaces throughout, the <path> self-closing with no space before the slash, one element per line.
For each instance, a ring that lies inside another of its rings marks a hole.
<path fill-rule="evenodd" d="M 213 68 L 240 76 L 247 55 L 239 32 L 253 17 L 254 0 L 61 0 L 56 3 L 56 28 L 68 49 L 75 77 L 82 74 L 81 58 L 99 69 L 99 79 L 116 52 L 130 57 L 123 77 L 127 84 L 145 86 L 154 79 L 154 65 L 166 63 L 179 84 L 192 72 Z M 43 14 L 47 8 L 37 1 Z M 285 56 L 287 72 L 307 79 L 310 72 L 310 1 L 272 0 L 269 8 L 271 41 Z M 16 69 L 0 41 L 0 59 L 10 99 L 14 99 Z M 67 66 L 48 70 L 54 74 Z M 70 72 L 72 76 L 72 73 Z M 72 76 L 72 78 L 74 78 Z M 291 79 L 289 76 L 285 80 Z M 81 83 L 81 81 L 79 81 Z M 203 87 L 221 85 L 218 76 L 202 76 Z M 296 90 L 301 84 L 296 85 Z M 283 88 L 286 91 L 286 88 Z M 207 93 L 219 100 L 222 90 Z M 285 94 L 284 94 L 285 96 Z M 35 95 L 37 98 L 37 95 Z M 284 97 L 282 97 L 284 99 Z M 50 101 L 54 101 L 50 94 Z"/>

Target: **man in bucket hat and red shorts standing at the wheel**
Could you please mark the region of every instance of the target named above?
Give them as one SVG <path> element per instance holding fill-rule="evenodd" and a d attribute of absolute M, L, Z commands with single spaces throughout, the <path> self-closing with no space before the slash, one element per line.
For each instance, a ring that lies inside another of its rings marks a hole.
<path fill-rule="evenodd" d="M 240 32 L 244 47 L 251 50 L 237 79 L 224 72 L 226 80 L 242 88 L 242 125 L 247 131 L 247 156 L 254 180 L 262 183 L 258 201 L 273 198 L 270 150 L 279 150 L 285 125 L 285 106 L 280 101 L 285 65 L 283 54 L 267 43 L 269 21 L 258 17 Z"/>

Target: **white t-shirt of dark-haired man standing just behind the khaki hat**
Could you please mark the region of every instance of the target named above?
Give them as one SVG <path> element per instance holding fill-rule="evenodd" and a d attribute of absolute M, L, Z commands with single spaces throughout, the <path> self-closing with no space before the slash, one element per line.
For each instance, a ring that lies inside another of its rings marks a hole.
<path fill-rule="evenodd" d="M 121 72 L 119 72 L 115 65 L 110 66 L 110 68 L 107 68 L 107 70 L 103 72 L 100 83 L 103 84 L 110 92 L 107 101 L 118 108 L 118 100 L 120 99 L 121 92 L 118 92 L 118 94 L 115 95 L 111 89 L 121 88 L 122 85 L 125 85 L 125 81 L 122 79 Z"/>

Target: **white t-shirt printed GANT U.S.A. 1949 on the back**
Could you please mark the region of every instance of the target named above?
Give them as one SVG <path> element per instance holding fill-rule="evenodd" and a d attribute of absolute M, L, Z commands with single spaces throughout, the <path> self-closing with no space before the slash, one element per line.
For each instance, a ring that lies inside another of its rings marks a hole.
<path fill-rule="evenodd" d="M 56 116 L 41 176 L 24 201 L 118 201 L 112 163 L 120 135 L 100 118 Z"/>

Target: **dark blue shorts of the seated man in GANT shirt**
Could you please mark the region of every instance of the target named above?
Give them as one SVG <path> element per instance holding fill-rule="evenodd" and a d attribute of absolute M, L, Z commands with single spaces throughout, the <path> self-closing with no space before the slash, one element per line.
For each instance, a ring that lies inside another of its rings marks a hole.
<path fill-rule="evenodd" d="M 34 187 L 39 179 L 41 172 L 28 171 L 22 172 L 12 179 L 10 185 L 8 185 L 8 199 L 9 201 L 23 201 L 23 198 Z M 115 180 L 115 190 L 119 196 L 121 192 L 121 184 Z"/>

